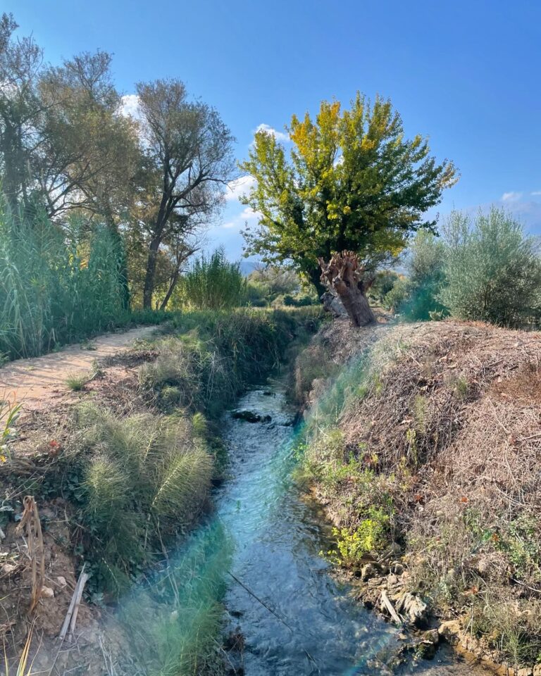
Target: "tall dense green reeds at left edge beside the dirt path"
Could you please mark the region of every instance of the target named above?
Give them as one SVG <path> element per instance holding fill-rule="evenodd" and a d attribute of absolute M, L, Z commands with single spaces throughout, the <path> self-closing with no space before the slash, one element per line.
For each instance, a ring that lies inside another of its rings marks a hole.
<path fill-rule="evenodd" d="M 0 353 L 37 356 L 127 318 L 116 239 L 105 227 L 69 232 L 0 204 Z"/>

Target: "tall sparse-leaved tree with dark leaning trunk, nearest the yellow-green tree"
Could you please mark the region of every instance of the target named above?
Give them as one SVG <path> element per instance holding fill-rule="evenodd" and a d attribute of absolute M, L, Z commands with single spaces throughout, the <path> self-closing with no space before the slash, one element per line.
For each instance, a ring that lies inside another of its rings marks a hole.
<path fill-rule="evenodd" d="M 168 246 L 170 251 L 181 252 L 179 269 L 182 251 L 193 249 L 180 245 L 197 234 L 220 208 L 235 163 L 230 130 L 214 108 L 188 99 L 183 82 L 142 82 L 137 94 L 146 149 L 144 189 L 137 210 L 148 238 L 143 306 L 150 308 L 161 249 Z M 178 275 L 173 275 L 174 284 L 176 280 Z M 168 297 L 173 289 L 168 289 Z"/>

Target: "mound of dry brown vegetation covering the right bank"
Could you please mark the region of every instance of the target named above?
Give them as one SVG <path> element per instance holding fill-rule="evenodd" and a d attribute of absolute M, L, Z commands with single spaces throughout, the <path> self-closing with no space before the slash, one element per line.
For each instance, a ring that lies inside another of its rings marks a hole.
<path fill-rule="evenodd" d="M 347 529 L 342 549 L 361 560 L 369 518 L 387 519 L 380 530 L 402 547 L 413 591 L 463 618 L 493 655 L 535 663 L 540 334 L 454 321 L 371 332 L 335 323 L 319 340 L 312 350 L 340 353 L 335 361 L 347 365 L 313 406 L 306 467 Z"/>

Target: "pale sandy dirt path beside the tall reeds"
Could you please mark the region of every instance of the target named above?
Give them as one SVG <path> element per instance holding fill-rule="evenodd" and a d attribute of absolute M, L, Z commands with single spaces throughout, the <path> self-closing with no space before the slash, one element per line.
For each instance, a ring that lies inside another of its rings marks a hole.
<path fill-rule="evenodd" d="M 121 351 L 154 330 L 154 326 L 142 326 L 124 333 L 108 333 L 90 341 L 92 349 L 77 344 L 61 352 L 11 362 L 0 368 L 0 398 L 15 397 L 17 403 L 23 404 L 23 411 L 44 408 L 68 392 L 66 378 L 70 374 L 88 373 L 94 360 Z"/>

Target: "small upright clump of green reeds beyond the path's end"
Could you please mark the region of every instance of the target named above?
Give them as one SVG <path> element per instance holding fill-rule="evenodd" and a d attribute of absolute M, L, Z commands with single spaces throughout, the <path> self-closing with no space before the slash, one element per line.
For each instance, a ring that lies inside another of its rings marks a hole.
<path fill-rule="evenodd" d="M 246 280 L 240 263 L 230 263 L 223 249 L 196 258 L 182 279 L 176 302 L 199 310 L 225 310 L 244 303 Z"/>

